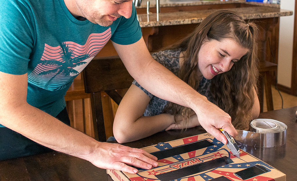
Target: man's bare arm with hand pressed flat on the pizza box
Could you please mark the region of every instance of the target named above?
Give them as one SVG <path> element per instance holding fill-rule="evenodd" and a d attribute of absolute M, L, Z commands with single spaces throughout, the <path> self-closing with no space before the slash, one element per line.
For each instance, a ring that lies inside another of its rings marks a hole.
<path fill-rule="evenodd" d="M 53 150 L 90 161 L 103 169 L 137 172 L 157 166 L 156 157 L 136 148 L 97 142 L 26 102 L 27 74 L 0 72 L 0 124 Z M 127 164 L 127 165 L 126 165 Z"/>

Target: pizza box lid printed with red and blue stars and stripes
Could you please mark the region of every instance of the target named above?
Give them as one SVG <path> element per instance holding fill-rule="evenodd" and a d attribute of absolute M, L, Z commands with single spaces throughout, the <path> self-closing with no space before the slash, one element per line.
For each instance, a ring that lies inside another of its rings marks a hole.
<path fill-rule="evenodd" d="M 199 149 L 196 150 L 196 147 Z M 275 170 L 273 167 L 243 151 L 240 158 L 237 158 L 226 145 L 208 133 L 143 149 L 157 156 L 158 167 L 151 170 L 139 169 L 137 174 L 125 173 L 131 181 L 274 180 L 268 177 L 268 172 Z M 262 168 L 266 174 L 251 174 L 251 178 L 244 178 L 249 174 L 245 170 L 254 172 L 250 171 L 253 168 L 260 168 L 260 171 Z M 240 177 L 242 174 L 244 177 Z"/>

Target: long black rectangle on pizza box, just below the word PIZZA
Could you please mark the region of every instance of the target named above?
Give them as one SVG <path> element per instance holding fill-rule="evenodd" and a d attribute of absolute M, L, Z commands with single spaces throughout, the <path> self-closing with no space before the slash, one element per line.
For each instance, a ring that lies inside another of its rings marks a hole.
<path fill-rule="evenodd" d="M 204 172 L 206 170 L 214 169 L 223 165 L 227 165 L 229 163 L 233 163 L 233 161 L 227 156 L 223 156 L 221 158 L 217 158 L 214 160 L 206 161 L 199 163 L 197 165 L 188 166 L 182 169 L 174 170 L 171 172 L 167 172 L 164 174 L 156 175 L 156 177 L 161 181 L 170 181 L 179 179 L 182 177 L 186 177 L 195 173 Z"/>

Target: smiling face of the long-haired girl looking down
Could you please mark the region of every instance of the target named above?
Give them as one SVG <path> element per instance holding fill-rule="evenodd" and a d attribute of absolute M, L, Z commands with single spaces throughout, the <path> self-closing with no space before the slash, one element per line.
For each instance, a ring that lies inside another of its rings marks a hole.
<path fill-rule="evenodd" d="M 198 53 L 199 70 L 204 78 L 212 79 L 217 74 L 228 72 L 247 51 L 229 38 L 204 41 Z"/>

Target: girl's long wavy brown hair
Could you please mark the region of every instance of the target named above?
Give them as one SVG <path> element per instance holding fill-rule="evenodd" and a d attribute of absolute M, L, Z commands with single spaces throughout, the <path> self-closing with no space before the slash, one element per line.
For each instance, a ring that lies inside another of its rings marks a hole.
<path fill-rule="evenodd" d="M 256 58 L 256 39 L 258 28 L 252 22 L 245 22 L 233 11 L 220 10 L 205 18 L 189 36 L 165 49 L 184 51 L 184 63 L 179 78 L 197 90 L 198 53 L 204 41 L 215 39 L 221 41 L 229 38 L 243 48 L 248 49 L 240 61 L 223 74 L 211 79 L 211 94 L 214 102 L 232 118 L 236 129 L 248 129 L 252 120 L 254 89 L 257 91 L 258 60 Z M 188 107 L 168 102 L 163 112 L 182 115 L 189 120 L 192 110 Z M 198 113 L 199 114 L 199 113 Z"/>

